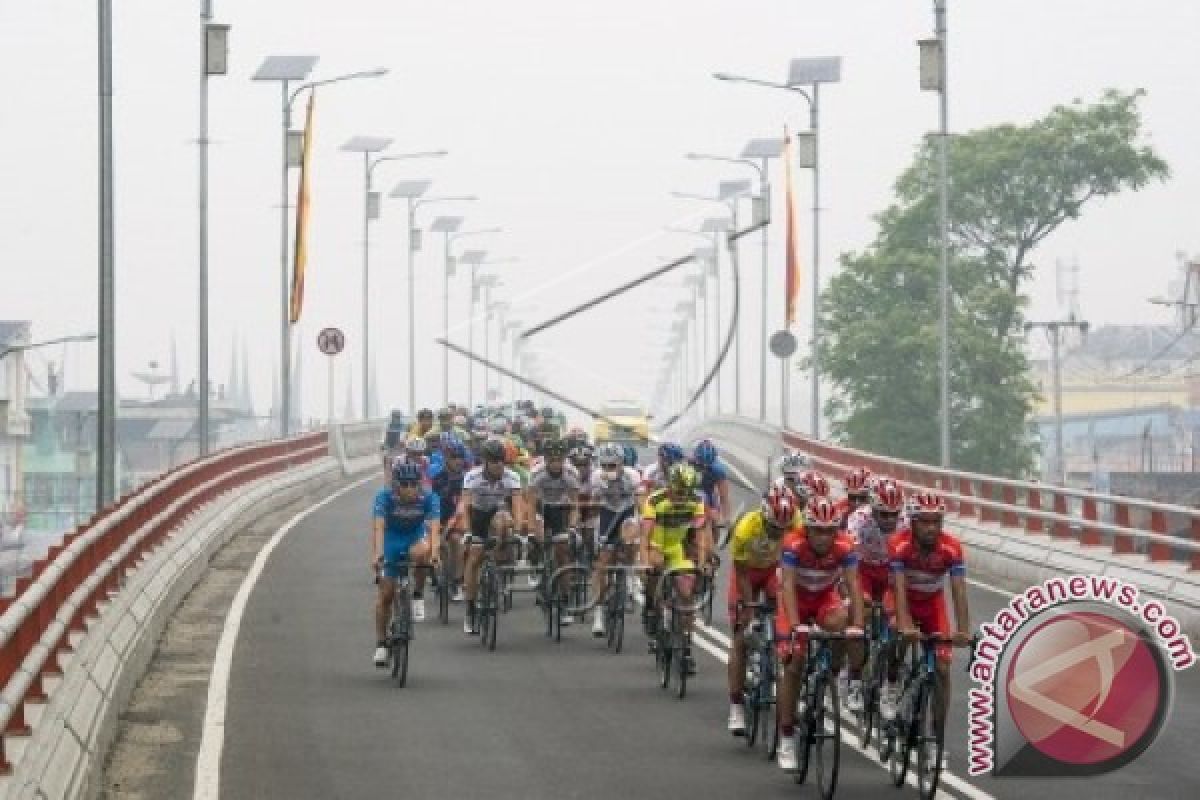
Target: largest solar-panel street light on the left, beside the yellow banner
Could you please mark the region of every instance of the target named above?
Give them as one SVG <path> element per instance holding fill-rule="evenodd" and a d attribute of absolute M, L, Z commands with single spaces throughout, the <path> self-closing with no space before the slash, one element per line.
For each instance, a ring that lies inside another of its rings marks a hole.
<path fill-rule="evenodd" d="M 288 277 L 288 169 L 300 166 L 300 142 L 302 134 L 292 131 L 292 107 L 302 92 L 334 83 L 358 80 L 360 78 L 379 78 L 388 70 L 379 67 L 366 72 L 350 72 L 324 80 L 301 83 L 294 91 L 288 91 L 290 84 L 306 80 L 317 64 L 313 55 L 271 55 L 254 72 L 253 80 L 275 80 L 280 83 L 283 98 L 283 148 L 280 175 L 280 435 L 287 437 L 292 425 L 292 330 L 288 313 L 289 285 Z"/>

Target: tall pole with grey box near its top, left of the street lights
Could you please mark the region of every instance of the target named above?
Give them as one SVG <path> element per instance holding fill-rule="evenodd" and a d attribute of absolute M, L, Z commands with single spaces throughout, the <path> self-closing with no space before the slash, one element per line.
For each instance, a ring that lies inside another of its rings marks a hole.
<path fill-rule="evenodd" d="M 209 76 L 227 72 L 229 54 L 229 26 L 212 22 L 212 0 L 200 0 L 200 134 L 198 143 L 199 172 L 199 405 L 197 407 L 197 435 L 199 453 L 209 453 Z"/>

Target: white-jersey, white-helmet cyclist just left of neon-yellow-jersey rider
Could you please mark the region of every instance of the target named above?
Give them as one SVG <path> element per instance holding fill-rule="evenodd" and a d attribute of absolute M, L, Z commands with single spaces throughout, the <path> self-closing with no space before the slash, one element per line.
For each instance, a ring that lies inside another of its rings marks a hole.
<path fill-rule="evenodd" d="M 625 451 L 614 443 L 600 445 L 596 451 L 600 469 L 594 471 L 587 491 L 599 507 L 595 561 L 592 567 L 592 596 L 600 597 L 608 577 L 613 554 L 626 557 L 637 543 L 637 494 L 641 476 L 625 465 Z M 605 609 L 598 603 L 592 612 L 592 636 L 605 634 Z"/>

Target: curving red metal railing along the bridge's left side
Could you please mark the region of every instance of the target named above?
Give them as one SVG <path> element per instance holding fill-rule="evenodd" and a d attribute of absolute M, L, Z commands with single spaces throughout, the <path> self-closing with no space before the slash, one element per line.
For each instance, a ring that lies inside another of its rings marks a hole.
<path fill-rule="evenodd" d="M 4 736 L 28 734 L 71 636 L 83 633 L 127 575 L 188 516 L 227 492 L 329 455 L 328 432 L 232 447 L 142 485 L 67 533 L 0 599 L 0 774 Z"/>

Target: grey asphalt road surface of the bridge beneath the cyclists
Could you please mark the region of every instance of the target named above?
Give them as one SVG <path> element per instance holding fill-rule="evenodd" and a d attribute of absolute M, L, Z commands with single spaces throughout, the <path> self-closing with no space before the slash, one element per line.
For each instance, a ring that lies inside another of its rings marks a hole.
<path fill-rule="evenodd" d="M 230 675 L 222 795 L 727 799 L 812 790 L 725 732 L 725 666 L 712 652 L 697 649 L 700 674 L 684 700 L 661 691 L 635 616 L 625 652 L 612 655 L 582 625 L 559 644 L 547 640 L 532 596 L 521 595 L 487 652 L 462 633 L 462 607 L 454 606 L 449 626 L 419 626 L 408 686 L 392 687 L 371 664 L 372 489 L 299 524 L 251 595 Z M 973 619 L 1006 600 L 972 588 Z M 719 597 L 714 621 L 727 632 L 722 606 Z M 706 638 L 721 652 L 719 636 Z M 966 782 L 966 676 L 955 675 L 948 741 L 961 782 L 947 783 L 946 796 L 1195 796 L 1195 670 L 1181 675 L 1170 729 L 1150 752 L 1114 775 L 1069 782 Z M 892 792 L 883 769 L 842 747 L 839 796 Z M 911 787 L 904 793 L 916 796 Z"/>

